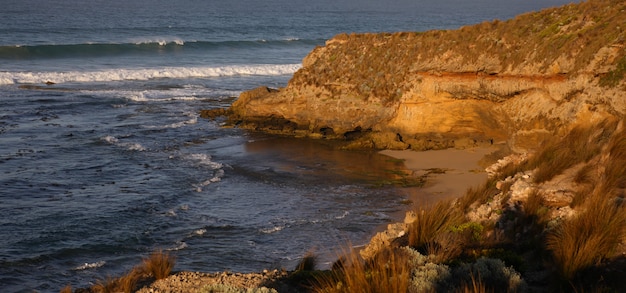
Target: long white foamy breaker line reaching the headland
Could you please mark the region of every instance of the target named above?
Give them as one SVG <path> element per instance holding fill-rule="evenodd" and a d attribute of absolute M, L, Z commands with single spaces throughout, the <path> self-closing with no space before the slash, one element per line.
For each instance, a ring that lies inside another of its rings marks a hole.
<path fill-rule="evenodd" d="M 301 64 L 228 65 L 220 67 L 166 67 L 149 69 L 110 69 L 67 72 L 0 72 L 0 84 L 87 83 L 161 78 L 208 78 L 239 75 L 286 75 Z"/>

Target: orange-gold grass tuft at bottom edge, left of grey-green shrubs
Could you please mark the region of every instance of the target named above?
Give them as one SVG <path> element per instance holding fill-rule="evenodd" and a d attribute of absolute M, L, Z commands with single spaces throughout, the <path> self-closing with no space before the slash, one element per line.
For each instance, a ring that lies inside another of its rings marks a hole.
<path fill-rule="evenodd" d="M 349 264 L 332 276 L 316 280 L 314 292 L 407 292 L 411 280 L 409 259 L 403 251 L 386 250 L 363 261 L 358 253 L 348 256 Z"/>

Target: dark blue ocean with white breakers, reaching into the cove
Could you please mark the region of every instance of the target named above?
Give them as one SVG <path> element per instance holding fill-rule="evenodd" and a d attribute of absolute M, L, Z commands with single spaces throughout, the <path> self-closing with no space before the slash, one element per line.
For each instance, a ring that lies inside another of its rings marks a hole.
<path fill-rule="evenodd" d="M 293 269 L 399 220 L 374 151 L 199 117 L 283 87 L 343 32 L 455 29 L 563 0 L 0 0 L 0 291 L 58 292 L 164 250 Z"/>

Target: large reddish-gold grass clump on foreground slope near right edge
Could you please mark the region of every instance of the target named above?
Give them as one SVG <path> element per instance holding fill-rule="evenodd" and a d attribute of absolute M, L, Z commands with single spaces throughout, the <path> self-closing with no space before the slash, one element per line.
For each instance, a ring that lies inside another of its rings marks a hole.
<path fill-rule="evenodd" d="M 595 193 L 584 211 L 565 220 L 547 236 L 547 247 L 554 265 L 565 280 L 610 257 L 624 237 L 626 210 Z"/>

